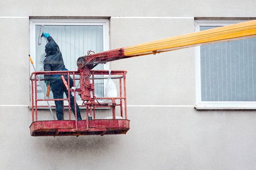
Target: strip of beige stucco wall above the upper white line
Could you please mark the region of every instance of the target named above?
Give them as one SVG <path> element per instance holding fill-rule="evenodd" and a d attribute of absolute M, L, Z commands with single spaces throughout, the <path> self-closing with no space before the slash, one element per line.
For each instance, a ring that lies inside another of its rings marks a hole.
<path fill-rule="evenodd" d="M 246 0 L 2 0 L 1 16 L 255 17 Z"/>

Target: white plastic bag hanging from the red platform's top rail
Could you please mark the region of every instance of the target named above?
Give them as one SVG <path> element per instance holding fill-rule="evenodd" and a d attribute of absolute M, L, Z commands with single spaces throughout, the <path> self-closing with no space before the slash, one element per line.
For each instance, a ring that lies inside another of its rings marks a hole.
<path fill-rule="evenodd" d="M 107 80 L 107 85 L 104 93 L 104 97 L 117 97 L 117 90 L 114 81 L 110 78 L 111 70 L 109 70 L 109 76 Z M 115 100 L 117 102 L 117 100 Z M 104 99 L 103 103 L 112 103 L 112 99 Z"/>

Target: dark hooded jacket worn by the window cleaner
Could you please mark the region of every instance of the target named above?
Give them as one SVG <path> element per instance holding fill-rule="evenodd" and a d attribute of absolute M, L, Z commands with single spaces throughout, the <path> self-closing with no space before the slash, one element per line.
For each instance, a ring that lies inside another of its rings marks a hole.
<path fill-rule="evenodd" d="M 47 37 L 48 43 L 45 46 L 46 59 L 44 59 L 44 71 L 60 71 L 65 69 L 62 53 L 59 46 L 51 36 Z M 60 75 L 44 75 L 45 80 L 52 81 Z"/>

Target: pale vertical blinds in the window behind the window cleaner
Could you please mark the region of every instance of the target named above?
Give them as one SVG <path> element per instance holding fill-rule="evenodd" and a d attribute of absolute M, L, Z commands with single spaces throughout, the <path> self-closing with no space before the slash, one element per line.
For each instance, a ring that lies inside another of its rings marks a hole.
<path fill-rule="evenodd" d="M 41 25 L 36 25 L 36 42 L 38 42 L 40 29 Z M 44 25 L 44 33 L 49 33 L 58 44 L 60 51 L 62 52 L 65 67 L 68 70 L 77 70 L 76 60 L 81 56 L 87 55 L 87 51 L 92 50 L 95 51 L 95 53 L 103 51 L 103 26 Z M 44 50 L 47 42 L 47 39 L 43 38 L 41 45 L 36 43 L 35 63 L 37 71 L 44 70 L 43 61 L 46 55 Z M 94 69 L 102 70 L 103 64 L 98 64 Z M 43 75 L 40 79 L 41 78 L 43 79 Z M 78 85 L 79 80 L 76 80 L 75 84 Z M 47 87 L 43 81 L 42 85 L 44 86 L 44 91 L 46 91 Z M 103 80 L 95 80 L 95 96 L 103 97 Z M 37 86 L 37 98 L 44 98 L 40 85 Z M 49 98 L 53 98 L 52 93 L 50 93 Z"/>

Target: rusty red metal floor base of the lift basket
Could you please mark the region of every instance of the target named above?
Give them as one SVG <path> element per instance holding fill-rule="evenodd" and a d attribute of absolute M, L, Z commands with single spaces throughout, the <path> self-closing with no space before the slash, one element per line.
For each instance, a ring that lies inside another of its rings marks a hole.
<path fill-rule="evenodd" d="M 35 121 L 30 126 L 31 136 L 79 136 L 126 134 L 130 128 L 130 120 L 96 119 L 79 120 L 76 130 L 75 120 Z"/>

